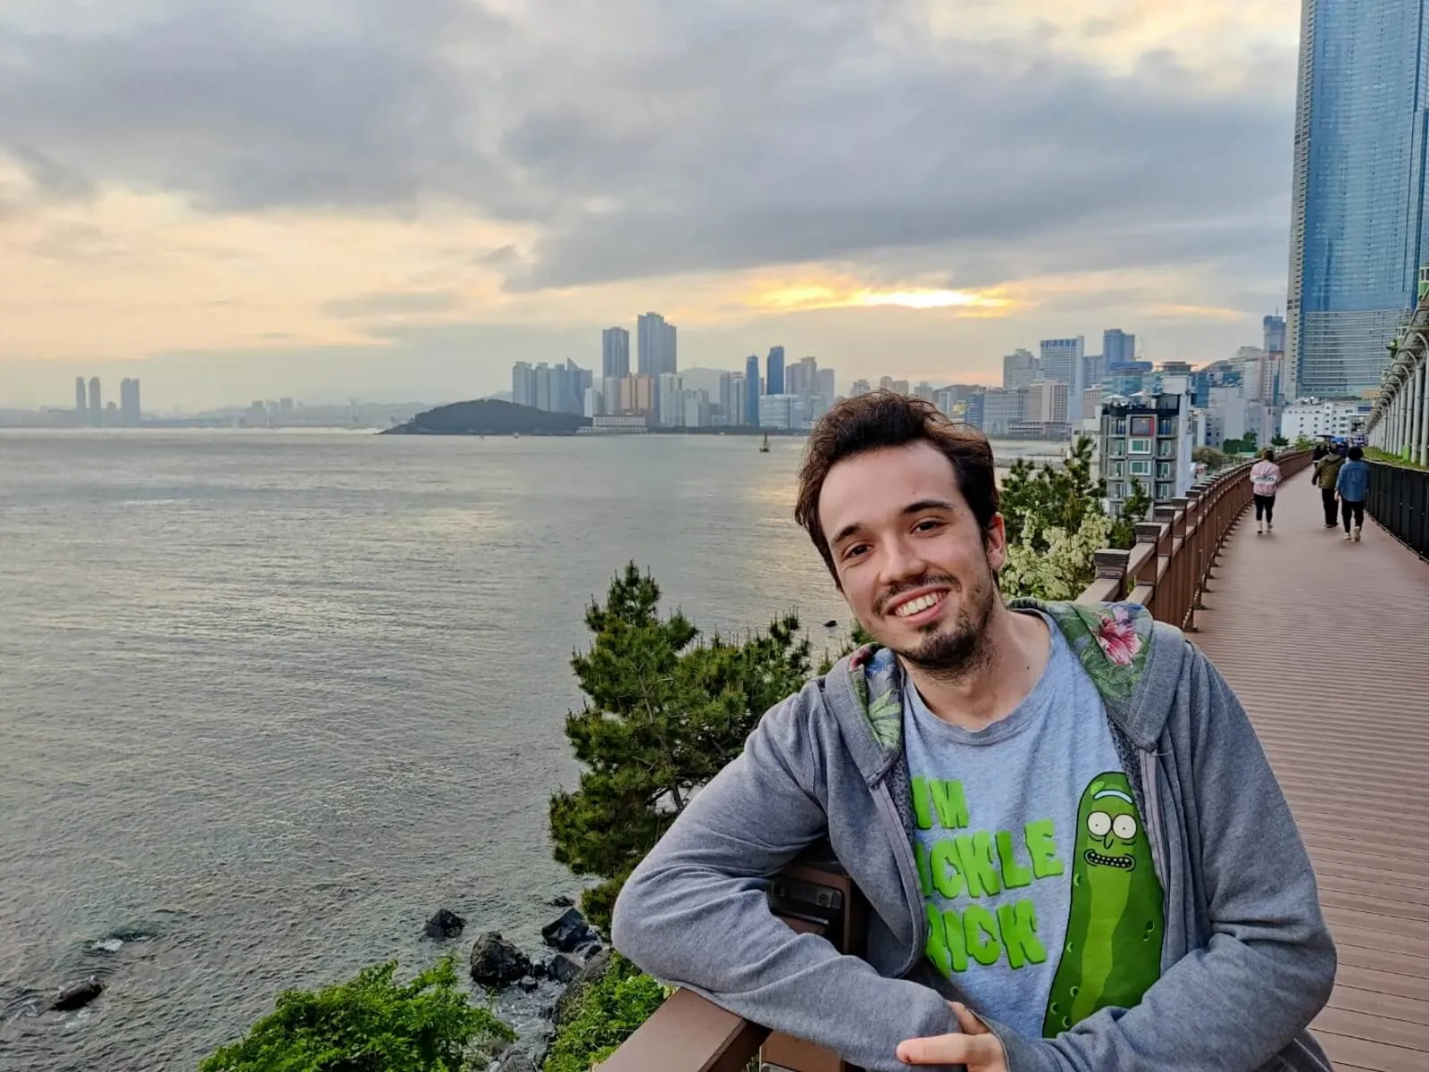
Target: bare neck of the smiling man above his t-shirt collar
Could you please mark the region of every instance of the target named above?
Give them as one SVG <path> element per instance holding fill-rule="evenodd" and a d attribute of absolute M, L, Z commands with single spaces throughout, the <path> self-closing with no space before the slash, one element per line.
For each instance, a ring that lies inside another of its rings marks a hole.
<path fill-rule="evenodd" d="M 1037 685 L 1052 655 L 1040 615 L 1019 615 L 999 600 L 983 635 L 979 659 L 957 673 L 942 673 L 903 660 L 923 703 L 943 722 L 986 729 L 1017 709 Z"/>

